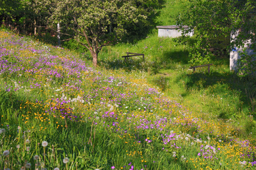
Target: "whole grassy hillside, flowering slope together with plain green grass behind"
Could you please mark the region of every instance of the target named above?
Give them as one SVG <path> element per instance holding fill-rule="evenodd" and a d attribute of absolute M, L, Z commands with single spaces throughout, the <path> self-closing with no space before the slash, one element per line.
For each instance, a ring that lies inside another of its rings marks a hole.
<path fill-rule="evenodd" d="M 160 25 L 186 3 L 166 2 Z M 106 46 L 94 68 L 1 30 L 0 169 L 254 169 L 255 84 L 225 57 L 192 73 L 188 53 L 155 30 Z"/>

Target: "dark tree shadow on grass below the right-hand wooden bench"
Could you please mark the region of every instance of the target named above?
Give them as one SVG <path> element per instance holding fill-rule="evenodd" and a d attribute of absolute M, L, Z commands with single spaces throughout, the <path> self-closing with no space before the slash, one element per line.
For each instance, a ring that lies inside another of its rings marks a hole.
<path fill-rule="evenodd" d="M 214 96 L 225 96 L 228 94 L 233 97 L 233 99 L 229 99 L 229 96 L 227 96 L 229 102 L 236 101 L 237 113 L 240 112 L 240 109 L 248 113 L 255 112 L 256 79 L 241 79 L 236 73 L 221 74 L 217 71 L 212 71 L 210 74 L 198 72 L 182 74 L 176 79 L 176 83 L 180 82 L 184 83 L 188 91 L 182 94 L 182 96 L 188 95 L 192 90 L 203 93 L 207 91 L 209 94 L 214 94 Z M 237 99 L 234 99 L 234 97 L 237 97 Z M 228 111 L 228 109 L 220 108 L 218 116 L 220 118 L 230 118 Z"/>

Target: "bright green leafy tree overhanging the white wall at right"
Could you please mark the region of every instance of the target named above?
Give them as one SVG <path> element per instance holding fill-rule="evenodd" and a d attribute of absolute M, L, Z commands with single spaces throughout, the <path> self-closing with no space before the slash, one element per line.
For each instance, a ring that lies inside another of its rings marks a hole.
<path fill-rule="evenodd" d="M 222 49 L 232 50 L 245 45 L 246 40 L 256 42 L 254 0 L 191 0 L 177 18 L 177 24 L 195 29 L 195 42 L 191 45 L 191 63 L 208 62 L 213 53 L 210 49 L 222 44 Z M 230 33 L 242 29 L 237 39 L 230 43 Z M 183 36 L 181 39 L 184 39 Z M 217 50 L 221 50 L 221 48 Z M 255 44 L 250 46 L 255 50 Z"/>

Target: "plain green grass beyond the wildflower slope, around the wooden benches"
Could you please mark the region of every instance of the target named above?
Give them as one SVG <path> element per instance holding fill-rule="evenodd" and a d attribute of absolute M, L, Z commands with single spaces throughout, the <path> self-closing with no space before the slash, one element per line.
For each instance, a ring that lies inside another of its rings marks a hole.
<path fill-rule="evenodd" d="M 156 23 L 160 25 L 175 24 L 175 16 L 183 10 L 187 1 L 166 1 L 159 10 Z M 191 40 L 193 41 L 193 38 Z M 188 42 L 189 43 L 189 42 Z M 240 79 L 229 70 L 229 56 L 212 58 L 207 67 L 189 69 L 189 44 L 180 45 L 175 40 L 158 37 L 157 29 L 148 34 L 146 39 L 136 43 L 120 43 L 102 49 L 99 54 L 100 65 L 106 69 L 125 69 L 126 71 L 146 71 L 151 84 L 159 86 L 162 91 L 179 102 L 187 101 L 189 107 L 196 105 L 197 111 L 217 115 L 218 118 L 233 118 L 255 114 L 256 87 L 255 79 Z M 141 57 L 130 58 L 124 62 L 126 52 L 143 53 Z M 90 58 L 90 54 L 85 55 Z M 207 63 L 205 63 L 207 64 Z M 250 131 L 255 131 L 255 124 Z"/>

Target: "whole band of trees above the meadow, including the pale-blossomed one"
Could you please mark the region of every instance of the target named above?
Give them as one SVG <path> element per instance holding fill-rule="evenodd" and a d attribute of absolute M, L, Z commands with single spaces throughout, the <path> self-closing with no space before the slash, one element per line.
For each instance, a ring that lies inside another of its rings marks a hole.
<path fill-rule="evenodd" d="M 160 4 L 158 0 L 3 0 L 1 3 L 3 24 L 8 22 L 11 28 L 27 34 L 40 35 L 40 28 L 51 28 L 71 36 L 90 51 L 95 66 L 103 46 L 113 45 L 125 35 L 146 32 Z"/>

